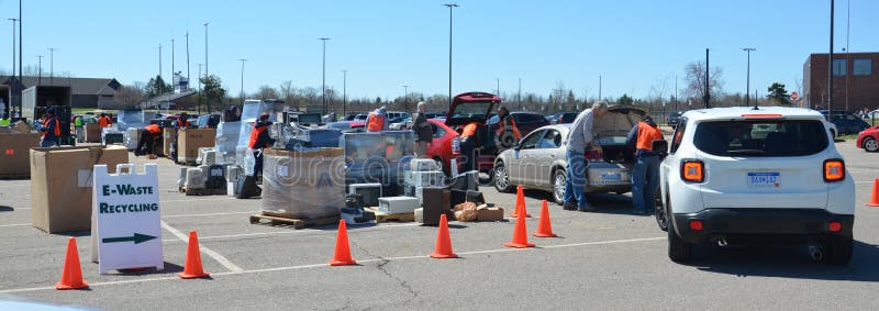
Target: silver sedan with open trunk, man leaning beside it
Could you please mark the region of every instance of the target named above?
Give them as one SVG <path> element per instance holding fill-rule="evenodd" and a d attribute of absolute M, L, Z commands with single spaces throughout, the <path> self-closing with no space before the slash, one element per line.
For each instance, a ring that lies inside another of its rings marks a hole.
<path fill-rule="evenodd" d="M 603 153 L 588 152 L 587 193 L 632 191 L 630 174 L 635 165 L 634 152 L 625 146 L 626 134 L 641 121 L 643 109 L 615 105 L 604 118 L 596 120 L 596 144 Z M 556 203 L 563 204 L 565 196 L 565 151 L 570 124 L 553 124 L 535 130 L 512 148 L 502 152 L 494 160 L 494 188 L 501 192 L 522 185 L 530 189 L 553 192 Z"/>

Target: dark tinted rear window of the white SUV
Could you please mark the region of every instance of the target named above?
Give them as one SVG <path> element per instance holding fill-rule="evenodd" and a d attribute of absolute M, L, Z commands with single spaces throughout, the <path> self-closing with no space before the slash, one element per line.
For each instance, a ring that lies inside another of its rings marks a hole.
<path fill-rule="evenodd" d="M 697 148 L 715 156 L 806 156 L 828 144 L 819 120 L 702 122 L 693 141 Z"/>

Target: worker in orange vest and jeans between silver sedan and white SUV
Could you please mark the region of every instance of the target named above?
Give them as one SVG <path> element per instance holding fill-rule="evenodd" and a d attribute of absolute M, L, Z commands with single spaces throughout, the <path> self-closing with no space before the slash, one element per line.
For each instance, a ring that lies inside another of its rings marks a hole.
<path fill-rule="evenodd" d="M 635 149 L 635 168 L 632 170 L 632 203 L 635 214 L 650 213 L 655 209 L 656 190 L 659 189 L 659 153 L 653 149 L 654 141 L 665 140 L 663 131 L 656 126 L 648 115 L 635 124 L 628 136 L 626 145 Z"/>

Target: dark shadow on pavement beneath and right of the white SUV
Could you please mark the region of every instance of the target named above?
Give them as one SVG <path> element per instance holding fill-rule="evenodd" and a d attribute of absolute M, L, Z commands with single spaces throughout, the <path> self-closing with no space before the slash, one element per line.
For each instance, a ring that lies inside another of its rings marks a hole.
<path fill-rule="evenodd" d="M 738 277 L 778 277 L 817 280 L 879 281 L 879 247 L 855 241 L 848 266 L 827 266 L 811 259 L 805 246 L 730 247 L 702 246 L 688 263 L 702 271 Z"/>

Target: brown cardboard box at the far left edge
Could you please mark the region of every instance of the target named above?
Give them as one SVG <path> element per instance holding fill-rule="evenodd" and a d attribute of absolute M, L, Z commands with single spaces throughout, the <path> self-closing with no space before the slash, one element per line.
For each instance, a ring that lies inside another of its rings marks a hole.
<path fill-rule="evenodd" d="M 40 133 L 0 134 L 0 176 L 31 175 L 30 148 L 40 146 Z"/>

